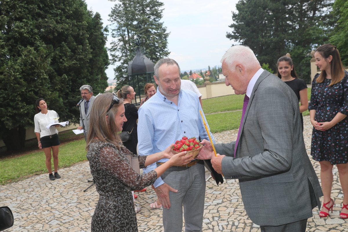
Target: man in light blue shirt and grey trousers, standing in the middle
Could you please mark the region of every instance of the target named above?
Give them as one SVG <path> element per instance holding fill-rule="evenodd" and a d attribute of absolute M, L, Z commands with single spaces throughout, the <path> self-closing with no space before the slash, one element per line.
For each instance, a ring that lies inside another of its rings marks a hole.
<path fill-rule="evenodd" d="M 209 139 L 199 111 L 197 95 L 180 89 L 180 67 L 170 58 L 159 60 L 153 76 L 157 93 L 139 109 L 138 149 L 140 155 L 163 151 L 183 136 Z M 203 114 L 205 119 L 205 116 Z M 208 126 L 209 128 L 209 126 Z M 214 137 L 211 134 L 214 141 Z M 155 169 L 168 159 L 159 160 L 143 169 Z M 185 167 L 173 166 L 153 184 L 162 203 L 165 232 L 182 231 L 184 208 L 185 231 L 201 231 L 205 198 L 203 162 L 193 160 Z"/>

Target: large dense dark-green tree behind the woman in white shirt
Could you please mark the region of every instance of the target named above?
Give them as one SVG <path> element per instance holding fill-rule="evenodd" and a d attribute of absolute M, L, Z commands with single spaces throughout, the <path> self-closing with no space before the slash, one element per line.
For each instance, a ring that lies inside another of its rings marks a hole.
<path fill-rule="evenodd" d="M 77 122 L 79 87 L 104 91 L 106 38 L 92 16 L 82 0 L 0 1 L 0 139 L 8 151 L 24 147 L 37 98 Z"/>

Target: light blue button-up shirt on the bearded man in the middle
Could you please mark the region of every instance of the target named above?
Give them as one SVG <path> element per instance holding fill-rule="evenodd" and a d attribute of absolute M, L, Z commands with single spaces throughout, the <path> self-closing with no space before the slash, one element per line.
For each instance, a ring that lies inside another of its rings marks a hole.
<path fill-rule="evenodd" d="M 202 117 L 199 113 L 203 110 L 200 106 L 197 95 L 186 89 L 181 89 L 179 92 L 178 105 L 169 101 L 162 95 L 157 88 L 157 93 L 138 110 L 138 150 L 139 155 L 149 155 L 165 150 L 169 145 L 180 140 L 183 136 L 200 137 L 207 139 L 209 136 L 205 130 Z M 210 133 L 210 132 L 209 132 Z M 210 133 L 214 141 L 214 136 Z M 168 159 L 161 159 L 158 162 L 166 162 Z M 156 163 L 152 163 L 144 168 L 144 173 L 148 173 L 155 169 Z M 153 186 L 158 187 L 164 184 L 159 177 Z"/>

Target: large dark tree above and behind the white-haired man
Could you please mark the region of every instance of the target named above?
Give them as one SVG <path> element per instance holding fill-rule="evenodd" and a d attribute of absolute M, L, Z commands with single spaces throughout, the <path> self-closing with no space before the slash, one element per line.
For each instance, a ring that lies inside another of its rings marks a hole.
<path fill-rule="evenodd" d="M 290 53 L 300 77 L 310 80 L 309 54 L 327 39 L 332 3 L 333 0 L 240 0 L 237 12 L 232 12 L 232 32 L 227 32 L 226 37 L 249 46 L 260 63 L 268 63 L 272 70 L 276 70 L 280 56 Z"/>

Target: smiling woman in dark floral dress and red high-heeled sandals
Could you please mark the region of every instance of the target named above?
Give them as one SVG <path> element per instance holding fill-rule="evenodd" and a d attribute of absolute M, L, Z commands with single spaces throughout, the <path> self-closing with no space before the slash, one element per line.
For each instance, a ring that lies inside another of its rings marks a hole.
<path fill-rule="evenodd" d="M 320 163 L 324 205 L 320 217 L 333 208 L 332 168 L 337 165 L 343 192 L 340 217 L 348 218 L 348 72 L 343 69 L 336 47 L 325 44 L 316 49 L 315 65 L 322 71 L 312 82 L 309 102 L 313 125 L 311 155 Z"/>

